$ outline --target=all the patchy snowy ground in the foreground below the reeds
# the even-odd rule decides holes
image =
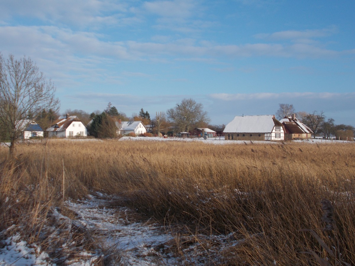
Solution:
[[[233,233],[201,235],[181,225],[169,225],[166,231],[152,220],[140,221],[127,207],[113,207],[117,199],[94,193],[86,200],[67,201],[66,206],[77,216],[75,221],[54,211],[62,223],[75,222],[85,228],[98,246],[94,251],[82,250],[75,259],[61,264],[94,266],[104,257],[107,265],[215,265],[223,260],[223,250],[240,243]],[[0,244],[0,265],[55,265],[40,247],[29,245],[17,234]]]

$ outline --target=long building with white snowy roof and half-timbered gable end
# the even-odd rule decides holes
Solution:
[[[224,128],[225,140],[284,140],[283,124],[274,115],[236,116]]]

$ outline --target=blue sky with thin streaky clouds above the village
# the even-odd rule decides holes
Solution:
[[[60,111],[151,118],[184,98],[211,124],[279,104],[355,126],[355,1],[0,2],[3,57],[30,57]]]

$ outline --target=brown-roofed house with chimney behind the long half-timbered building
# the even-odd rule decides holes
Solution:
[[[295,114],[292,116],[285,116],[280,122],[285,127],[285,139],[310,139],[313,131],[304,123],[299,121]]]

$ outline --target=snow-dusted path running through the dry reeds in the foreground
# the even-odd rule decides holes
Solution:
[[[88,200],[68,202],[68,207],[78,215],[78,221],[97,238],[107,256],[116,258],[121,265],[176,265],[173,254],[159,251],[164,243],[173,239],[162,226],[150,221],[137,222],[126,207],[107,207],[112,196],[98,194]],[[112,203],[111,203],[112,205]],[[110,254],[111,253],[111,254]],[[117,261],[119,260],[119,261]]]

